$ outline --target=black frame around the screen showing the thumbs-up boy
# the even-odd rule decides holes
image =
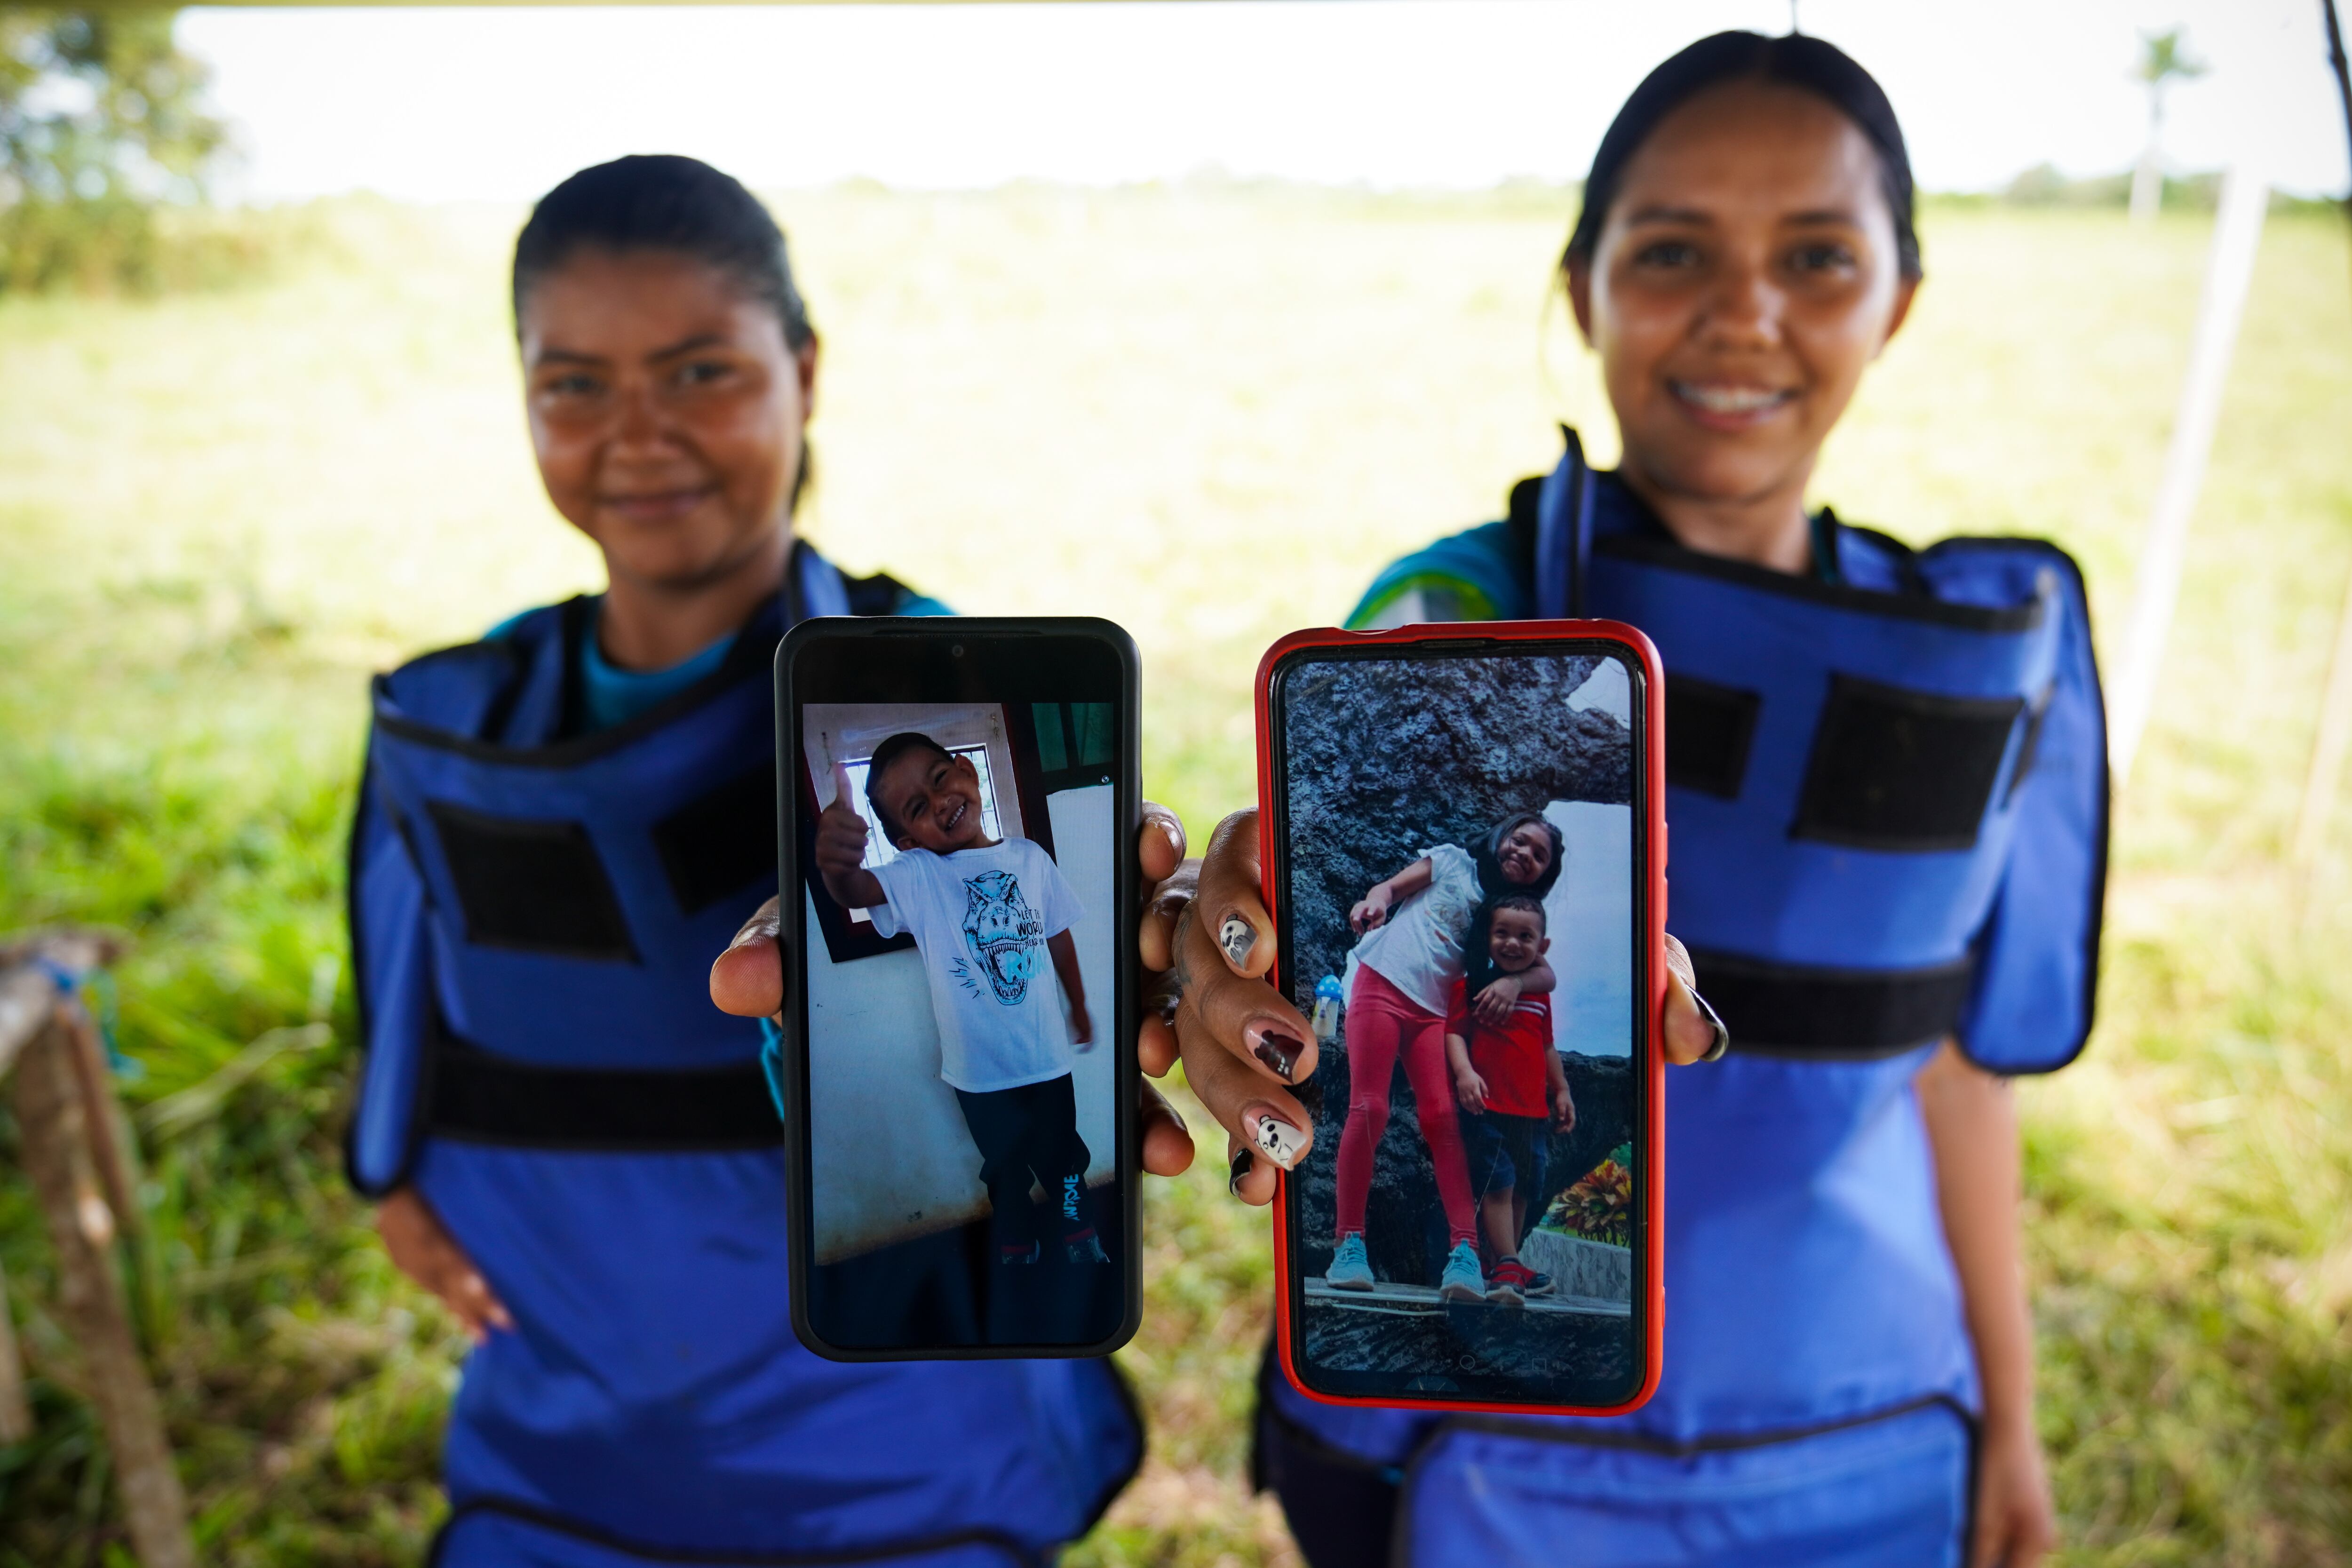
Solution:
[[[804,691],[809,679],[828,679],[804,668],[811,649],[840,646],[854,665],[840,686]],[[1080,656],[1105,661],[1101,670],[1073,679],[1082,668]],[[978,701],[1115,701],[1117,703],[1117,757],[1112,778],[1117,785],[1115,823],[1120,851],[1112,856],[1112,903],[1117,919],[1112,929],[1115,994],[1103,1013],[1108,1046],[1115,1053],[1115,1161],[1122,1171],[1117,1204],[1122,1215],[1120,1274],[1124,1281],[1124,1312],[1117,1326],[1094,1342],[1044,1342],[1044,1345],[927,1345],[927,1347],[847,1347],[826,1340],[809,1321],[809,1269],[814,1267],[814,1215],[809,1204],[811,1143],[807,1126],[809,1105],[809,1020],[807,1020],[807,910],[795,896],[800,889],[800,827],[802,797],[802,726],[800,703],[818,701],[955,701],[938,696],[941,686],[924,689],[920,682],[927,665],[941,675],[960,668],[967,679],[974,670],[988,670],[993,691]],[[1004,682],[1002,689],[997,682]],[[776,646],[776,886],[779,929],[776,940],[783,959],[786,1001],[781,1091],[786,1100],[783,1143],[788,1161],[786,1180],[786,1227],[790,1253],[793,1333],[811,1354],[828,1361],[1004,1361],[1004,1359],[1082,1359],[1108,1356],[1136,1335],[1143,1321],[1143,1248],[1136,1234],[1138,1220],[1138,1147],[1136,1147],[1136,1093],[1141,1067],[1136,1063],[1136,1009],[1141,997],[1141,973],[1136,952],[1136,929],[1141,922],[1138,870],[1134,858],[1136,832],[1143,825],[1143,776],[1141,776],[1141,658],[1134,639],[1112,621],[1091,616],[821,616],[795,625]]]

